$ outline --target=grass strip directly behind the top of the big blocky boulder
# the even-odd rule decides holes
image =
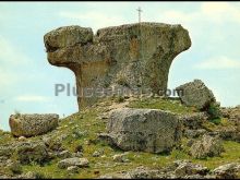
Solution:
[[[131,108],[149,108],[149,109],[160,109],[169,110],[176,113],[191,113],[196,111],[194,107],[187,107],[177,99],[151,97],[144,99],[137,99],[130,103],[129,107]]]

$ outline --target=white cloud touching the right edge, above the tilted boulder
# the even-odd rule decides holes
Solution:
[[[240,69],[240,60],[229,59],[228,57],[214,57],[195,65],[197,69]]]

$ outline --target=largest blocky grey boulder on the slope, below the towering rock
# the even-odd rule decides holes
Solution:
[[[169,152],[181,137],[175,113],[155,109],[117,109],[107,125],[111,144],[124,151]]]

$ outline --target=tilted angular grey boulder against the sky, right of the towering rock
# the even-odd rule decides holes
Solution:
[[[201,80],[185,83],[176,88],[181,101],[196,109],[207,109],[211,103],[215,103],[213,92]]]

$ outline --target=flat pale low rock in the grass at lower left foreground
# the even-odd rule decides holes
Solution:
[[[60,169],[67,169],[68,167],[71,167],[71,166],[76,166],[79,168],[82,168],[82,167],[88,167],[88,164],[89,163],[86,158],[73,157],[73,158],[67,158],[67,159],[59,161],[58,167]]]

